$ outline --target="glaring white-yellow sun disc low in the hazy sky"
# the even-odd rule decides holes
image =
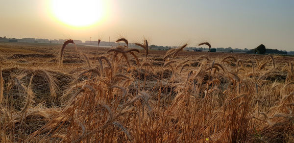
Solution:
[[[73,27],[86,27],[101,21],[103,2],[100,0],[52,0],[54,17]]]

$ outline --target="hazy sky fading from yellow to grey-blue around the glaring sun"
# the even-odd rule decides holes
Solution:
[[[103,3],[103,20],[73,27],[52,15],[51,0],[0,0],[0,36],[82,41],[90,37],[108,41],[110,36],[114,41],[123,35],[129,42],[138,42],[144,36],[151,44],[162,46],[185,42],[196,46],[208,41],[212,47],[255,48],[264,44],[267,48],[294,50],[294,0],[98,1]],[[82,16],[76,12],[89,10],[87,4],[79,5],[69,4],[73,8],[67,10],[68,15],[77,16],[73,20],[77,22]],[[88,12],[87,17],[98,15]]]

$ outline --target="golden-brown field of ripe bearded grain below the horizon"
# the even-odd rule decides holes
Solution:
[[[294,57],[70,43],[0,42],[0,142],[294,142]]]

